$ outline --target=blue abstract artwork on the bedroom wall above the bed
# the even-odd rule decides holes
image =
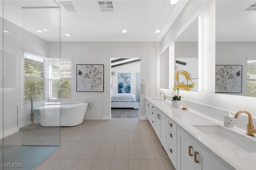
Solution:
[[[118,73],[118,93],[131,93],[130,73]]]

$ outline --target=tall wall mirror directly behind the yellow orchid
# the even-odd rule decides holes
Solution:
[[[175,68],[176,70],[186,70],[189,72],[191,81],[187,81],[184,76],[179,76],[179,82],[185,84],[194,83],[190,91],[198,92],[198,30],[199,19],[195,18],[175,39]]]

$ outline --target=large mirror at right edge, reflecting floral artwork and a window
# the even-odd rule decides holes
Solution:
[[[216,1],[215,92],[256,97],[256,2]]]

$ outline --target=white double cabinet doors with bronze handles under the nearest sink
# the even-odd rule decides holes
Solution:
[[[177,170],[231,170],[181,128],[177,129]]]

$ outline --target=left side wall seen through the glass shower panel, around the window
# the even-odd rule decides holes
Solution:
[[[8,20],[4,20],[4,29],[10,33],[4,33],[4,59],[1,58],[0,61],[3,66],[0,107],[3,109],[1,113],[4,114],[4,136],[7,136],[18,131],[18,127],[30,123],[30,103],[22,103],[24,50],[47,56],[48,42]],[[34,106],[37,104],[38,102],[35,102]]]

